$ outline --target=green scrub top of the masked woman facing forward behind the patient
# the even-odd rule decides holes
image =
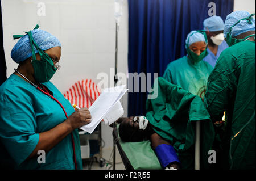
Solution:
[[[207,79],[212,70],[208,62],[193,63],[187,56],[184,56],[167,65],[163,78],[203,98]]]

